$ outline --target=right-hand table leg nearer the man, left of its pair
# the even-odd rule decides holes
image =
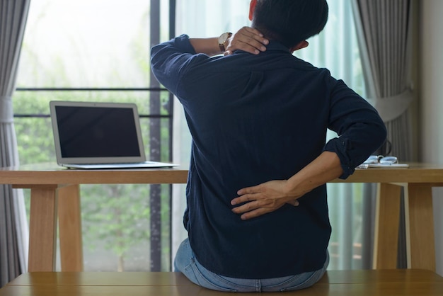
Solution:
[[[402,186],[379,183],[374,233],[374,269],[397,268]]]

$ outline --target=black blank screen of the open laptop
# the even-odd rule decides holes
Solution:
[[[56,106],[63,157],[140,156],[131,108]]]

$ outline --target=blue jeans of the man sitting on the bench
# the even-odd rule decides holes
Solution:
[[[326,272],[329,254],[323,268],[318,271],[285,276],[283,278],[242,279],[228,278],[208,271],[195,258],[189,239],[185,239],[178,248],[175,271],[183,273],[192,283],[202,287],[223,292],[283,292],[309,288],[318,282]]]

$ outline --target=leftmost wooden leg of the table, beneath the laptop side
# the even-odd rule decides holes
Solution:
[[[57,241],[57,186],[35,186],[30,191],[28,271],[55,271]]]

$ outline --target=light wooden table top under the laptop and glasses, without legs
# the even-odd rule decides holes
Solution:
[[[409,168],[356,169],[346,180],[332,183],[443,183],[443,166],[410,163]],[[0,168],[0,184],[186,183],[188,166],[161,169],[75,170],[57,164]]]

